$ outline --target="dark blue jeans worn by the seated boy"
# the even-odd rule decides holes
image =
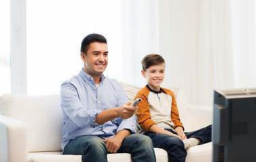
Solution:
[[[165,130],[177,134],[171,129]],[[211,125],[193,132],[185,132],[185,134],[187,138],[199,138],[200,144],[211,142]],[[169,162],[185,161],[187,151],[184,148],[184,142],[178,137],[152,132],[146,132],[145,135],[152,139],[154,147],[163,148],[167,151]]]

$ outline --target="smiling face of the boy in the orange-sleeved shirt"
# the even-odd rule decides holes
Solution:
[[[146,78],[148,86],[152,90],[159,91],[160,85],[165,78],[165,63],[152,65],[146,69],[146,72],[142,70],[142,76]]]

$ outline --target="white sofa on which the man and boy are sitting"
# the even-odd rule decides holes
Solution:
[[[129,100],[140,88],[123,84]],[[179,91],[179,92],[178,92]],[[186,131],[212,123],[212,108],[188,105],[182,90],[173,88]],[[60,95],[28,96],[4,94],[0,97],[1,162],[81,162],[81,155],[62,155],[62,110]],[[155,148],[158,162],[168,161],[167,152]],[[211,161],[212,142],[188,150],[186,162]],[[108,154],[108,161],[131,161],[128,153]]]

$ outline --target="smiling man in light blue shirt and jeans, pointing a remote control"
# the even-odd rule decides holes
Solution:
[[[61,86],[63,154],[82,155],[83,162],[107,161],[108,153],[131,153],[133,161],[156,161],[152,140],[135,134],[137,107],[127,103],[119,82],[103,74],[108,65],[106,38],[86,36],[81,58],[81,72]]]

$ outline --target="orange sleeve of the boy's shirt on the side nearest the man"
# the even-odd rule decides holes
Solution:
[[[139,122],[140,126],[142,127],[142,129],[146,130],[146,132],[149,131],[149,128],[151,126],[156,124],[156,122],[154,122],[151,119],[151,114],[150,114],[150,109],[149,109],[150,106],[148,104],[148,99],[146,96],[147,94],[148,94],[148,92],[144,92],[144,90],[142,89],[139,92],[137,92],[137,95],[135,97],[135,99],[137,99],[137,98],[142,99],[142,101],[138,105],[137,119],[138,119],[138,122]]]

